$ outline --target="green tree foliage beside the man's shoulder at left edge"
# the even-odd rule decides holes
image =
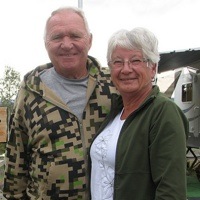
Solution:
[[[20,86],[20,73],[13,68],[6,66],[4,77],[0,79],[0,100],[1,106],[8,108],[8,113],[12,110],[13,101]]]

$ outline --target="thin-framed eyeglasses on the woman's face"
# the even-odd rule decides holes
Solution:
[[[137,59],[137,58],[133,58],[131,60],[120,60],[120,59],[116,59],[116,60],[112,60],[109,61],[108,63],[111,64],[115,69],[122,69],[124,67],[125,63],[128,63],[130,68],[134,68],[134,67],[141,67],[142,63],[148,63],[149,59]],[[148,67],[148,65],[147,65]]]

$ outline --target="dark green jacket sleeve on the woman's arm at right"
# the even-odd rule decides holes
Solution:
[[[150,165],[155,200],[186,199],[186,138],[188,121],[176,104],[156,108],[150,131]]]

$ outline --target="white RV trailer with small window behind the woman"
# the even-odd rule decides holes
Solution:
[[[189,121],[187,148],[197,162],[192,148],[200,148],[200,70],[183,67],[175,73],[174,101],[181,108]]]

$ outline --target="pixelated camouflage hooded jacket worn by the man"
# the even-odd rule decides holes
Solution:
[[[87,105],[82,121],[45,86],[27,74],[10,119],[3,193],[7,199],[87,199],[87,151],[110,111],[116,90],[108,68],[88,58]]]

